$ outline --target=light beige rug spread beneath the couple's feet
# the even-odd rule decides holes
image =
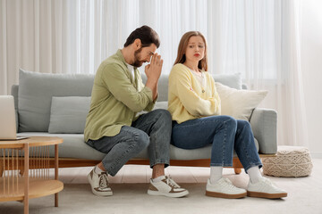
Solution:
[[[79,175],[78,175],[79,177]],[[248,176],[225,175],[234,185],[246,187]],[[205,196],[205,183],[181,183],[190,191],[188,197],[180,199],[149,196],[147,183],[112,184],[114,195],[97,197],[90,192],[88,184],[65,184],[59,193],[59,207],[54,207],[54,196],[30,200],[30,214],[39,213],[322,213],[322,160],[314,160],[310,177],[270,177],[276,185],[288,191],[285,199],[267,200],[259,198],[220,199]],[[84,175],[82,175],[84,178]],[[85,180],[85,178],[84,178]],[[23,213],[21,202],[0,202],[1,214]]]

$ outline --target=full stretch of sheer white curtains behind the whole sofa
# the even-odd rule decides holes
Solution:
[[[0,95],[18,69],[95,73],[146,24],[161,37],[168,73],[182,34],[208,38],[209,71],[241,72],[267,89],[261,107],[278,111],[279,144],[307,144],[301,84],[300,0],[0,0]]]

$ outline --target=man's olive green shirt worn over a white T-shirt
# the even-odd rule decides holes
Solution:
[[[138,69],[133,76],[121,50],[100,64],[86,118],[85,142],[116,136],[123,126],[131,126],[137,112],[153,109],[151,89],[143,85]]]

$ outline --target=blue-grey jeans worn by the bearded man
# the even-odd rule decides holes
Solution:
[[[155,110],[140,115],[131,127],[123,126],[118,135],[89,140],[87,144],[106,153],[102,163],[111,176],[147,147],[150,167],[160,163],[167,167],[170,162],[171,129],[169,111]]]

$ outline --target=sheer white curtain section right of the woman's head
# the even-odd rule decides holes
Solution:
[[[301,78],[301,1],[210,1],[213,72],[241,72],[251,89],[269,91],[261,107],[278,112],[278,143],[307,145]]]

